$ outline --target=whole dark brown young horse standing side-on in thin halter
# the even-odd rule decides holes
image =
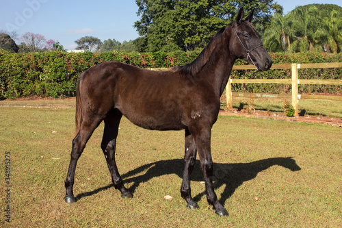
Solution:
[[[252,14],[218,31],[191,64],[170,71],[155,72],[120,62],[104,62],[81,74],[76,95],[76,136],[65,180],[67,203],[74,203],[75,168],[92,132],[105,121],[101,148],[107,160],[114,187],[122,197],[132,198],[124,187],[115,162],[116,136],[122,115],[145,129],[185,130],[185,169],[181,196],[195,209],[190,173],[196,154],[205,178],[207,201],[219,215],[228,215],[213,187],[211,127],[218,118],[220,97],[236,59],[244,59],[259,71],[268,70],[272,61],[261,45]]]

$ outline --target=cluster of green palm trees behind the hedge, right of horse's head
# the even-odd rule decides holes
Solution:
[[[299,6],[286,16],[275,14],[265,31],[268,51],[342,50],[342,8],[331,4]]]

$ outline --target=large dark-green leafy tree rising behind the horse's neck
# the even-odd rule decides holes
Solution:
[[[224,0],[136,0],[140,21],[134,27],[141,38],[135,42],[144,51],[192,51],[207,45],[215,32],[233,21],[241,5],[256,12],[256,26],[262,32],[272,12],[282,7],[273,1]]]

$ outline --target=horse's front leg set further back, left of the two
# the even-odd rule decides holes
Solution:
[[[183,173],[183,181],[181,186],[181,195],[183,199],[187,202],[187,207],[190,209],[198,208],[197,203],[192,199],[191,196],[191,187],[190,187],[190,175],[192,173],[192,169],[194,168],[194,164],[196,162],[196,145],[194,141],[194,136],[189,132],[189,130],[185,130],[185,155],[184,155],[184,173]]]

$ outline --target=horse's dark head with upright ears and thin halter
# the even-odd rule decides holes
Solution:
[[[237,14],[232,24],[230,50],[235,58],[243,59],[253,64],[258,71],[267,71],[272,66],[272,60],[263,47],[258,32],[252,23],[252,13],[244,18],[244,8]]]

